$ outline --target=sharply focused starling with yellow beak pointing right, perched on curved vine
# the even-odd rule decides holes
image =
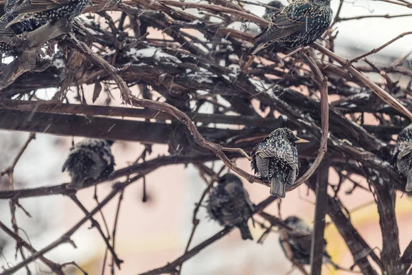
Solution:
[[[296,144],[308,142],[297,137],[288,128],[273,131],[257,144],[251,153],[255,173],[271,183],[271,195],[284,198],[299,172]]]

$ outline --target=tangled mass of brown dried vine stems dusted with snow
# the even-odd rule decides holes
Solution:
[[[405,9],[412,5],[406,0],[381,1]],[[299,136],[310,140],[310,144],[299,149],[301,170],[305,173],[293,188],[306,184],[317,195],[311,274],[321,272],[321,261],[317,260],[323,248],[317,244],[323,243],[325,213],[352,253],[355,270],[363,274],[407,274],[412,262],[412,242],[400,252],[395,214],[396,191],[402,192],[405,179],[394,170],[389,151],[392,135],[412,120],[409,111],[412,109],[412,70],[404,66],[410,53],[389,65],[375,65],[368,58],[412,32],[399,34],[385,45],[350,61],[334,54],[336,34],[332,31],[324,35],[325,45],[314,43],[311,49],[293,56],[282,58],[282,55],[262,51],[249,58],[245,52],[253,38],[247,30],[250,23],[263,28],[268,22],[245,9],[244,2],[247,1],[96,0],[84,11],[89,17],[76,19],[71,32],[49,41],[47,47],[38,47],[44,41],[35,41],[38,36],[34,34],[16,38],[16,45],[25,45],[19,47],[23,52],[11,63],[0,65],[0,129],[32,133],[14,162],[1,173],[10,179],[9,190],[0,192],[0,199],[10,201],[12,229],[1,222],[0,227],[16,241],[22,257],[20,263],[2,274],[13,274],[21,268],[30,274],[28,265],[33,261],[43,262],[56,274],[64,274],[67,265],[78,266],[74,262],[54,263],[44,254],[62,243],[74,245],[72,234],[87,221],[91,221],[104,239],[107,246],[104,265],[111,261],[111,274],[115,274],[122,264],[115,252],[117,217],[127,186],[139,179],[146,182],[145,176],[157,168],[191,163],[207,182],[198,202],[200,206],[222,172],[216,173],[205,162],[218,159],[247,181],[267,185],[236,166],[234,159],[249,158],[245,152],[281,126],[296,130]],[[339,13],[343,4],[341,0],[330,30],[341,21],[412,15],[342,18]],[[242,31],[230,28],[234,22],[242,24]],[[37,32],[45,32],[47,28],[54,27],[45,26]],[[162,38],[150,38],[148,32],[152,30],[161,31]],[[25,43],[21,44],[21,40]],[[358,61],[363,61],[363,65],[358,65]],[[365,73],[375,74],[379,80],[375,83]],[[399,76],[409,78],[409,83],[398,83],[395,79]],[[84,85],[94,85],[93,103],[101,94],[106,94],[106,104],[98,106],[87,102]],[[52,100],[38,98],[36,91],[47,88],[57,88]],[[73,102],[67,98],[69,92],[77,93]],[[328,95],[334,95],[334,100],[328,100]],[[124,105],[112,107],[113,96],[121,97]],[[211,105],[213,112],[200,113],[204,104]],[[375,118],[378,123],[367,124],[367,118]],[[226,126],[216,127],[216,124]],[[76,191],[65,188],[65,184],[14,190],[14,166],[36,132],[141,142],[145,149],[135,164],[116,170],[106,180],[124,179],[114,184],[104,199],[95,195],[97,205],[88,211],[76,197]],[[146,159],[151,144],[169,144],[170,154]],[[339,174],[337,185],[328,183],[330,167]],[[369,188],[354,181],[352,175],[367,179]],[[350,213],[339,199],[344,181],[353,185],[347,193],[363,189],[374,194],[382,230],[380,254],[358,234]],[[97,189],[102,182],[90,181],[84,188],[95,186]],[[19,235],[16,207],[29,214],[19,200],[58,194],[72,199],[85,217],[56,241],[36,250]],[[103,216],[102,208],[115,198],[118,199],[117,214],[110,232],[106,224],[102,229],[93,216],[98,212]],[[279,219],[263,212],[275,200],[268,197],[256,208],[256,213],[271,224],[264,235],[271,232],[272,226],[282,226]],[[182,256],[144,274],[179,274],[185,261],[231,232],[232,228],[225,228],[192,248],[192,236],[199,223],[198,206],[194,209],[192,234]],[[262,239],[263,236],[260,241]],[[23,250],[30,252],[30,256],[26,257]],[[307,274],[290,251],[288,255],[299,270]]]

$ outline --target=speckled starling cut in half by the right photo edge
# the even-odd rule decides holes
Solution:
[[[405,191],[412,192],[412,124],[400,131],[392,157],[398,172],[407,177]]]

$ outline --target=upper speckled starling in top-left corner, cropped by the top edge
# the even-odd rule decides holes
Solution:
[[[31,32],[59,19],[72,20],[82,13],[90,0],[8,0],[4,11],[15,34]]]

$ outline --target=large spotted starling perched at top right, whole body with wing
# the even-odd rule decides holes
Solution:
[[[293,1],[270,21],[271,24],[253,39],[252,54],[268,46],[275,52],[290,52],[319,39],[332,21],[330,0]]]

